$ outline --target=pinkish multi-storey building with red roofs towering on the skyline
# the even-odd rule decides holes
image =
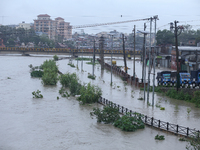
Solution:
[[[61,37],[62,40],[72,38],[72,28],[68,22],[61,17],[52,20],[47,14],[37,16],[37,19],[34,20],[34,30],[47,34],[52,40],[58,37]]]

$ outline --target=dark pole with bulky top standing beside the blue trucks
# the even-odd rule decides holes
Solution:
[[[176,74],[176,90],[178,92],[178,89],[180,88],[180,75],[179,75],[179,52],[178,52],[178,36],[181,34],[182,30],[183,30],[183,26],[178,26],[177,27],[177,23],[179,23],[178,21],[174,21],[175,26],[173,25],[173,22],[170,23],[170,30],[173,31],[174,28],[174,36],[175,36],[175,44],[176,44],[176,70],[177,70],[177,74]],[[179,33],[178,33],[179,30]]]

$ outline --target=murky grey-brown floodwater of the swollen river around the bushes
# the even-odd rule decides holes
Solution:
[[[40,79],[30,77],[28,65],[39,66],[46,59],[52,57],[0,56],[0,150],[185,149],[187,143],[180,142],[178,136],[154,128],[146,126],[136,132],[124,132],[112,125],[97,123],[90,117],[90,112],[93,107],[101,107],[100,104],[80,105],[74,97],[59,95],[60,83],[43,86]],[[82,83],[98,85],[102,88],[102,97],[156,119],[199,129],[200,109],[194,104],[155,94],[155,104],[165,107],[161,111],[138,100],[143,91],[126,85],[116,75],[113,75],[111,87],[110,72],[101,71],[100,65],[95,66],[96,80],[90,80],[87,75],[92,74],[91,65],[83,62],[82,68],[79,61],[77,69],[67,65],[68,62],[69,59],[58,61],[59,70],[75,72]],[[72,63],[77,65],[75,60]],[[127,64],[132,68],[132,61],[128,60]],[[123,61],[117,60],[117,65],[123,65]],[[136,62],[136,74],[141,75],[140,62]],[[32,92],[37,89],[43,99],[32,98]],[[189,115],[187,108],[192,109]],[[157,134],[164,135],[165,140],[156,141]]]

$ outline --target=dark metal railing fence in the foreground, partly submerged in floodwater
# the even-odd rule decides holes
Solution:
[[[176,124],[171,124],[169,122],[161,121],[153,117],[148,117],[147,115],[134,112],[132,110],[129,110],[128,108],[120,106],[102,97],[98,99],[98,103],[103,104],[105,106],[111,106],[113,108],[117,108],[119,113],[123,115],[129,114],[130,116],[135,116],[137,118],[140,117],[142,121],[148,126],[152,126],[164,131],[168,131],[176,135],[199,138],[199,132],[200,132],[199,130],[190,129],[189,127],[183,127]]]

